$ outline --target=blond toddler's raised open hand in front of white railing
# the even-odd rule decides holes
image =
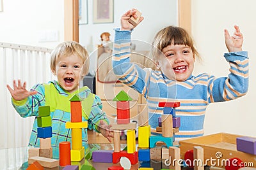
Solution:
[[[17,86],[16,81],[13,80],[13,89],[9,85],[7,85],[7,88],[15,101],[22,101],[23,99],[26,99],[27,97],[35,95],[37,93],[36,91],[29,92],[28,90],[26,90],[26,81],[23,83],[23,85],[21,85],[20,80],[18,80]]]

